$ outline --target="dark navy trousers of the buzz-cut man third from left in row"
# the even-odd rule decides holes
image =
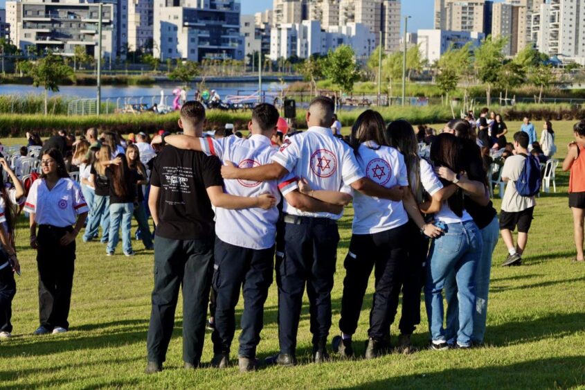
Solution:
[[[331,290],[337,255],[337,223],[328,218],[294,218],[285,224],[285,256],[276,265],[280,353],[294,354],[305,283],[313,344],[331,328]]]

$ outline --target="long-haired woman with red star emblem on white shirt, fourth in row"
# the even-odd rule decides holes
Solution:
[[[393,200],[354,193],[354,220],[352,240],[345,258],[345,279],[341,300],[341,335],[334,337],[333,349],[342,356],[353,355],[352,335],[357,329],[363,296],[366,294],[372,269],[375,275],[375,294],[370,310],[370,329],[366,359],[388,351],[390,325],[397,307],[402,276],[407,262],[408,214],[416,209],[413,197],[408,196],[408,174],[404,157],[388,145],[386,125],[378,112],[363,112],[352,127],[352,147],[359,166],[366,176],[380,186],[396,188],[399,196]],[[406,197],[404,197],[406,193]],[[420,233],[429,236],[438,233],[432,225],[425,225],[415,210]]]

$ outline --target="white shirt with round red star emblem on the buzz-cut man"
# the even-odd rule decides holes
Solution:
[[[289,171],[280,180],[282,195],[298,188],[296,181],[307,179],[314,190],[343,191],[350,193],[350,184],[363,177],[349,145],[333,136],[327,127],[310,127],[307,132],[287,137],[280,150],[272,156]],[[339,220],[343,215],[331,213],[307,213],[295,209],[285,200],[282,211],[305,217]]]

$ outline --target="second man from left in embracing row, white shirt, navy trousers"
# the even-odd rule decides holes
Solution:
[[[182,149],[199,150],[221,160],[235,161],[241,168],[271,163],[278,149],[272,148],[271,136],[276,132],[278,110],[273,105],[261,104],[252,112],[248,123],[249,139],[228,136],[222,139],[192,138],[188,136],[165,136],[165,142]],[[158,142],[154,139],[153,142]],[[226,180],[226,193],[242,197],[255,197],[271,193],[277,200],[280,192],[276,180],[249,181]],[[309,202],[316,201],[305,197]],[[341,212],[341,206],[323,204],[330,212]],[[260,342],[263,326],[264,302],[272,283],[274,245],[278,209],[216,211],[215,223],[215,275],[213,289],[216,295],[215,330],[213,331],[213,366],[228,365],[231,342],[235,332],[235,306],[244,297],[238,351],[240,371],[253,371],[257,366],[256,347]],[[221,275],[221,277],[217,276]]]

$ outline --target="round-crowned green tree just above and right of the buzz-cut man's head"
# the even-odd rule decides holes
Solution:
[[[354,82],[359,80],[359,65],[350,46],[341,45],[335,51],[329,51],[325,58],[323,76],[331,80],[342,91],[351,92]]]

